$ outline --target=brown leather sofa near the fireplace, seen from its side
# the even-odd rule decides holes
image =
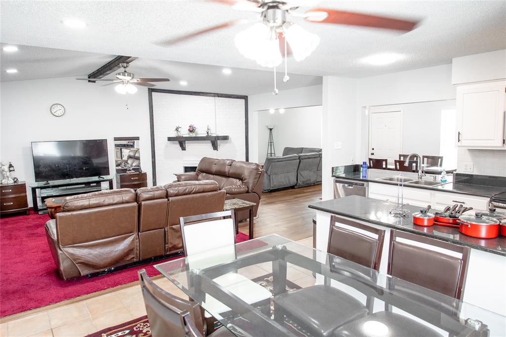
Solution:
[[[254,207],[253,215],[257,216],[264,183],[264,171],[260,164],[203,157],[195,173],[179,174],[177,180],[180,182],[214,180],[220,190],[227,192],[226,199],[237,198],[255,202],[257,205]],[[248,212],[239,212],[237,216],[239,220],[246,219]]]

